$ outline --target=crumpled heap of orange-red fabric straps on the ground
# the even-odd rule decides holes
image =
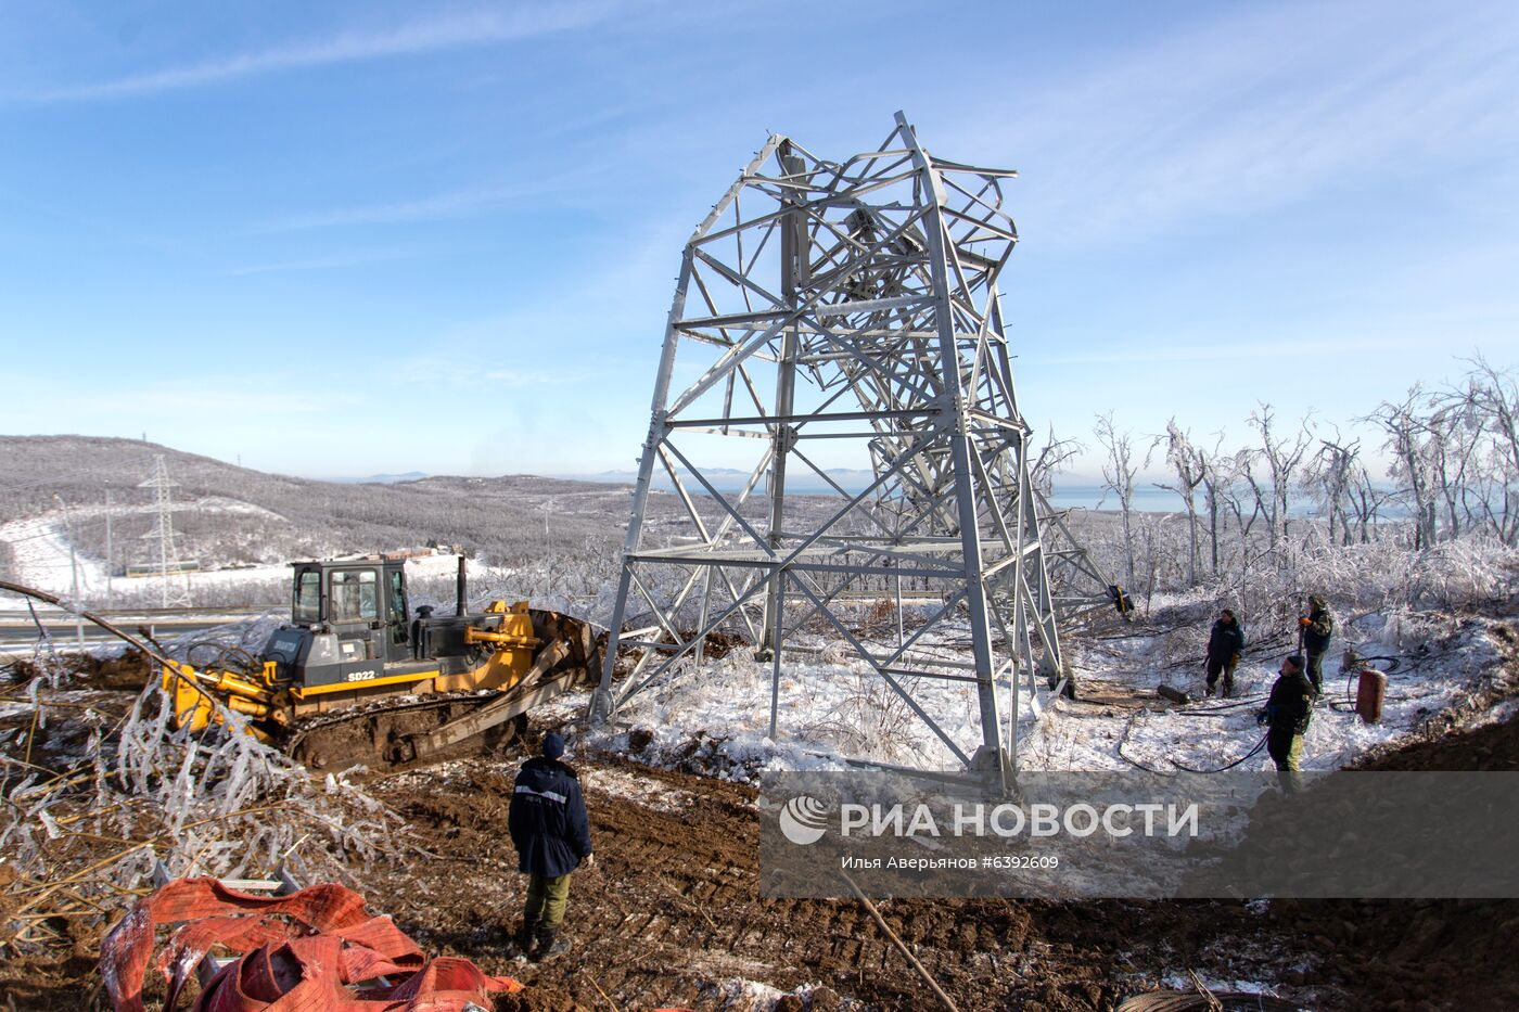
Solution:
[[[117,1012],[143,1012],[155,928],[179,922],[156,960],[169,982],[166,1012],[213,945],[240,959],[207,983],[193,1012],[465,1012],[523,988],[468,959],[427,959],[342,886],[255,897],[216,878],[179,878],[141,900],[102,944],[100,974]]]

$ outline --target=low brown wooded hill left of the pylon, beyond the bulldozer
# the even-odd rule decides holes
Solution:
[[[109,491],[117,565],[146,561],[153,542],[144,535],[153,530],[156,514],[153,491],[138,485],[152,476],[155,454],[164,456],[178,483],[172,494],[181,556],[210,565],[384,552],[428,541],[512,565],[582,550],[588,539],[617,546],[627,523],[629,488],[612,483],[533,476],[317,482],[93,436],[0,436],[0,523],[39,514],[58,514],[62,523],[61,498],[70,508],[73,542],[103,559]],[[673,508],[673,497],[656,498],[671,500],[655,503],[656,512]]]

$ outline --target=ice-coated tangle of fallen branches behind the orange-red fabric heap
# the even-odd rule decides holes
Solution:
[[[33,679],[30,697],[44,679]],[[26,915],[99,921],[170,875],[269,875],[287,866],[305,881],[352,880],[352,871],[404,846],[398,816],[342,775],[316,780],[258,742],[242,716],[225,726],[175,729],[150,684],[115,728],[96,728],[85,757],[56,775],[32,770],[5,789],[0,851],[14,872],[5,907],[15,945],[46,942]],[[43,883],[55,883],[53,887]]]

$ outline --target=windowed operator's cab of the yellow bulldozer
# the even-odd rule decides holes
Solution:
[[[292,625],[336,634],[345,656],[378,661],[412,656],[403,559],[293,565]]]

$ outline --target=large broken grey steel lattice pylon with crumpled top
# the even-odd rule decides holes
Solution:
[[[843,163],[770,137],[697,226],[594,720],[700,667],[708,635],[728,632],[770,664],[775,737],[785,664],[829,638],[958,766],[1009,783],[1019,696],[1037,708],[1060,687],[1056,606],[1107,600],[1030,482],[996,289],[1018,242],[1003,210],[1012,175],[934,158],[898,112],[878,150]],[[828,465],[848,451],[864,474],[852,483]],[[679,500],[673,526],[650,520],[656,480]],[[899,617],[904,593],[928,602],[913,629],[883,640],[848,617],[892,594]],[[638,659],[614,687],[620,647]],[[978,726],[933,711],[946,685]]]

